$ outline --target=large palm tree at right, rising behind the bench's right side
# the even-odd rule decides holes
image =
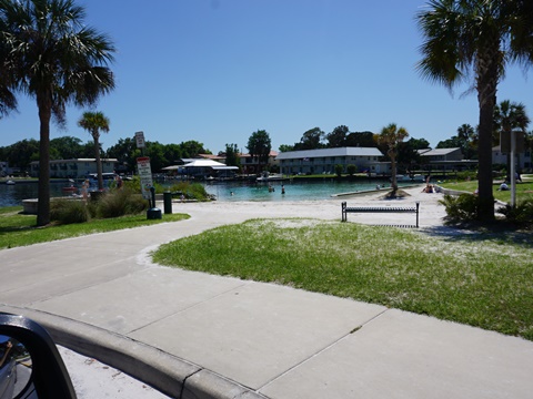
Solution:
[[[505,66],[533,64],[530,0],[431,0],[416,16],[424,35],[421,74],[449,89],[463,82],[477,92],[480,219],[494,218],[492,132],[496,90]],[[473,76],[473,81],[469,79]]]

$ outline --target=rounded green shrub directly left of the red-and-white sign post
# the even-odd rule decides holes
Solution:
[[[105,193],[97,203],[95,214],[98,217],[110,218],[139,214],[147,208],[148,202],[141,194],[123,187]]]

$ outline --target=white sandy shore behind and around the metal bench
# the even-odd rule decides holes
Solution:
[[[391,206],[414,207],[420,202],[420,227],[441,227],[445,209],[439,204],[443,195],[440,193],[422,193],[422,186],[404,190],[406,197],[400,200],[384,200],[385,190],[365,194],[353,194],[332,197],[325,201],[288,201],[279,202],[211,202],[211,203],[180,203],[173,204],[173,212],[184,212],[193,217],[209,217],[217,213],[224,215],[229,223],[239,223],[254,217],[313,217],[321,219],[341,219],[341,203],[348,206]],[[281,194],[280,194],[281,195]],[[349,214],[349,222],[384,225],[414,225],[415,214],[399,213],[365,213]]]

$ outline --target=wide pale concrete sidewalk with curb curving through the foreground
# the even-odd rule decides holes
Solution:
[[[161,243],[250,217],[180,209],[192,217],[1,250],[0,311],[175,398],[532,397],[531,341],[151,264]]]

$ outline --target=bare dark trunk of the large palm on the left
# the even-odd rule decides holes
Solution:
[[[50,119],[52,115],[50,96],[38,95],[37,105],[40,122],[37,225],[46,226],[50,223]]]

